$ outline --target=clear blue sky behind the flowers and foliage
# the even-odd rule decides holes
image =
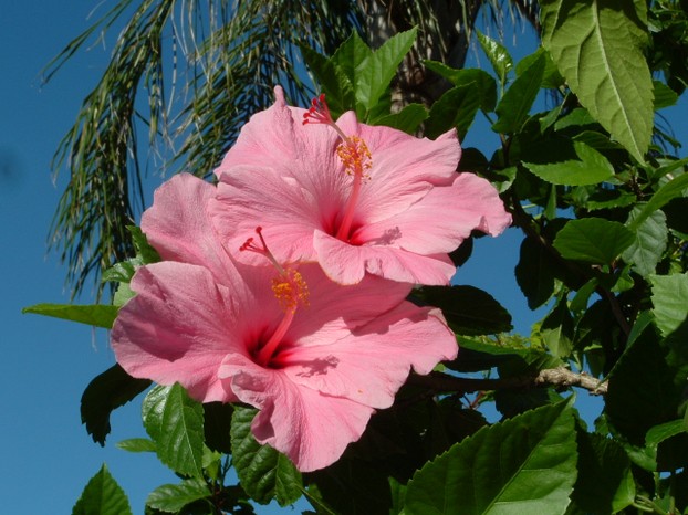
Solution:
[[[71,513],[83,486],[104,462],[129,496],[135,514],[143,513],[153,488],[176,481],[154,456],[129,454],[114,445],[144,435],[139,401],[114,413],[104,449],[93,443],[81,424],[79,403],[84,387],[114,362],[107,334],[20,313],[41,302],[69,302],[65,270],[46,249],[48,229],[65,183],[65,176],[53,183],[50,160],[81,99],[104,70],[108,49],[95,45],[79,53],[46,86],[41,86],[40,71],[87,27],[95,4],[91,0],[6,0],[0,14],[4,72],[0,82],[0,270],[4,286],[0,295],[0,498],[4,513]],[[519,53],[533,49],[532,39],[519,41]],[[685,107],[684,102],[674,109],[676,118]],[[471,138],[469,133],[469,146],[490,149],[497,145],[496,139]],[[159,178],[152,176],[147,183],[152,190]],[[490,292],[511,311],[517,328],[528,333],[535,318],[513,278],[519,242],[515,231],[497,240],[481,239],[458,281]],[[82,298],[91,301],[87,295]]]

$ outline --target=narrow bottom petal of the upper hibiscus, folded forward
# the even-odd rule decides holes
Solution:
[[[317,260],[333,281],[355,284],[368,272],[392,281],[413,284],[449,284],[456,267],[447,254],[421,255],[394,246],[350,245],[315,231]]]

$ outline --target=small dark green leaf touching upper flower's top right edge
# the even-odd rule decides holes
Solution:
[[[475,84],[452,87],[430,107],[425,124],[426,136],[432,139],[456,127],[461,139],[473,123],[479,107],[480,95]]]

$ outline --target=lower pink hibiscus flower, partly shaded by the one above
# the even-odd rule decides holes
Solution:
[[[117,361],[199,401],[253,406],[259,442],[301,471],[327,466],[411,368],[455,358],[456,339],[437,309],[404,299],[406,284],[342,286],[314,263],[275,267],[262,238],[244,249],[268,265],[236,263],[208,220],[215,190],[179,175],[156,191],[142,229],[166,261],[132,280],[136,296],[112,330]]]

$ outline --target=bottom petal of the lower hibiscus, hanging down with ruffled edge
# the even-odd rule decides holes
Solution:
[[[220,375],[241,401],[261,410],[251,425],[256,440],[286,454],[302,472],[338,460],[361,438],[374,411],[295,385],[283,372],[260,368],[241,355],[228,355]]]

